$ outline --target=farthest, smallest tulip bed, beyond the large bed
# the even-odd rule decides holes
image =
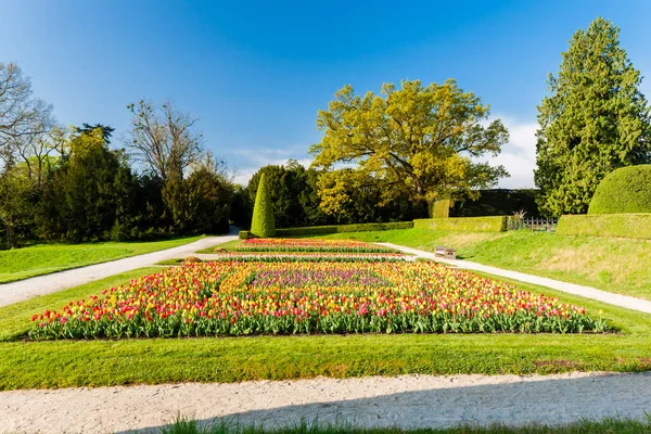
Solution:
[[[397,253],[393,248],[356,240],[293,238],[252,238],[244,240],[235,250],[238,252]]]

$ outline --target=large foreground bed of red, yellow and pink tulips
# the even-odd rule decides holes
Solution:
[[[189,264],[33,317],[48,339],[292,333],[575,333],[576,306],[433,263]]]

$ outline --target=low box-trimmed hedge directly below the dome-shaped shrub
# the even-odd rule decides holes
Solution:
[[[557,233],[651,240],[651,213],[562,216]]]

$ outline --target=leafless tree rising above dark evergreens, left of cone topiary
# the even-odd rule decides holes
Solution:
[[[140,101],[127,106],[132,113],[131,131],[125,140],[135,161],[143,163],[163,180],[182,177],[203,153],[197,119],[177,111],[171,103],[159,106]]]

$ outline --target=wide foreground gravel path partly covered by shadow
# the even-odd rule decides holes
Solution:
[[[3,392],[0,432],[155,432],[179,412],[203,422],[226,418],[265,426],[318,418],[413,429],[643,418],[650,410],[650,373],[405,375]]]

